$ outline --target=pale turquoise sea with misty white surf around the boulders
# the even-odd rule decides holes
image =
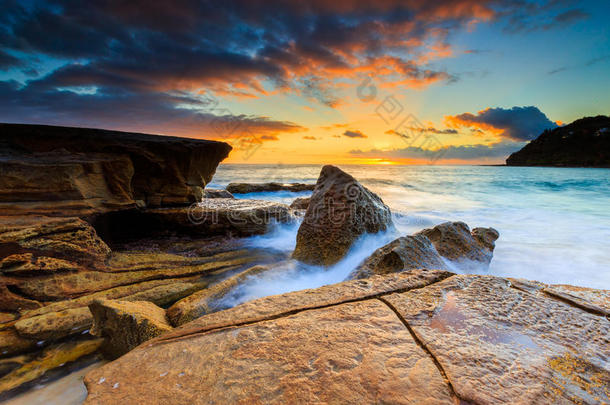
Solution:
[[[610,289],[610,170],[484,166],[342,165],[381,196],[401,234],[444,221],[500,232],[490,268],[484,272],[545,283]],[[229,182],[314,183],[318,165],[221,165],[210,187]],[[256,193],[290,203],[308,193]],[[290,250],[296,226],[253,238],[259,246]],[[277,288],[251,291],[248,298],[341,281],[371,249],[396,235],[371,239],[334,277],[312,272],[288,276]],[[354,252],[352,252],[354,253]],[[458,272],[477,271],[456,268]],[[293,273],[293,276],[297,273]],[[309,278],[308,278],[309,277]],[[312,281],[313,280],[313,281]],[[284,284],[282,284],[284,283]],[[285,284],[288,285],[285,285]]]

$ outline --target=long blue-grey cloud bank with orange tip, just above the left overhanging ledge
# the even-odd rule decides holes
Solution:
[[[227,140],[244,135],[276,140],[279,134],[306,129],[289,121],[212,109],[209,103],[208,99],[181,93],[129,93],[117,90],[79,94],[44,88],[32,92],[20,88],[15,82],[0,82],[0,105],[6,107],[0,109],[0,121],[3,122],[70,123]]]

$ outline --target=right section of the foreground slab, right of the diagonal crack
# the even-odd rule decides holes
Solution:
[[[454,276],[384,299],[436,357],[462,400],[610,400],[604,316],[491,276]]]

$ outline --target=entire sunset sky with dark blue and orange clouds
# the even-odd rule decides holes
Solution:
[[[500,164],[610,115],[610,2],[3,0],[0,122],[233,163]]]

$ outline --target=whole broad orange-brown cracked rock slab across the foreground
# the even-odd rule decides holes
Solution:
[[[199,318],[89,373],[86,403],[605,403],[609,335],[505,279],[417,270]]]

